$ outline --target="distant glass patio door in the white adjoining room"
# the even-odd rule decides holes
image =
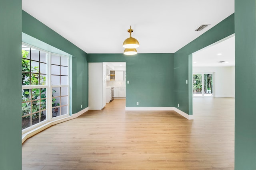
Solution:
[[[213,96],[213,73],[193,74],[193,96]]]

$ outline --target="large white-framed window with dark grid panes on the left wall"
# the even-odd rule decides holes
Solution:
[[[62,115],[69,115],[69,57],[22,45],[22,130]]]

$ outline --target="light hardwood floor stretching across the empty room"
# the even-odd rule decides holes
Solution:
[[[23,170],[233,170],[234,98],[174,111],[125,111],[125,100],[54,125],[22,145]]]

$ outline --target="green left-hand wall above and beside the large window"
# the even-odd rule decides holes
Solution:
[[[81,104],[82,109],[88,107],[87,54],[25,11],[22,11],[22,32],[72,55],[72,113],[80,111]]]

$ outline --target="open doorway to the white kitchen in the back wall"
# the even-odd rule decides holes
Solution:
[[[101,110],[115,98],[126,98],[126,63],[88,64],[88,107]]]

